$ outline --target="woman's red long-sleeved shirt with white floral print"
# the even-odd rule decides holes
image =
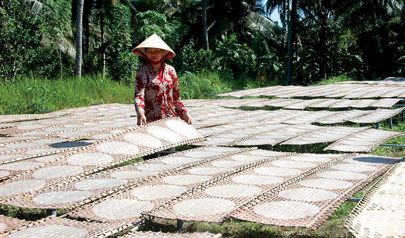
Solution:
[[[162,63],[159,72],[147,61],[139,68],[134,103],[138,116],[144,113],[147,123],[165,117],[183,118],[187,113],[180,99],[176,70],[166,63]]]

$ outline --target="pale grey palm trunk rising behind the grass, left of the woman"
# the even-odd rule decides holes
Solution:
[[[74,69],[74,74],[77,77],[82,76],[82,50],[83,50],[83,1],[77,0],[76,7],[76,66]]]

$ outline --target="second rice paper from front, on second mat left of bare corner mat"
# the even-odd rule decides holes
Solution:
[[[244,184],[217,185],[205,190],[205,193],[210,196],[223,198],[254,196],[261,192],[262,189],[259,187]]]

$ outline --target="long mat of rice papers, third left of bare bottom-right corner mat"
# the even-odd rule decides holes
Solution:
[[[159,208],[168,201],[179,200],[182,196],[189,196],[194,191],[201,190],[201,187],[238,171],[286,154],[288,153],[249,149],[234,155],[211,157],[191,167],[179,169],[164,177],[156,177],[92,204],[80,206],[68,214],[71,217],[102,222],[138,222],[144,212]]]

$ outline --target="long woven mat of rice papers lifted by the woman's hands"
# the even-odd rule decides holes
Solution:
[[[199,140],[204,139],[192,126],[179,118],[156,121],[129,129],[81,150],[68,152],[59,160],[49,162],[41,168],[25,171],[2,183],[0,195],[15,196],[43,187],[60,186],[133,158]],[[36,185],[27,186],[30,183]],[[16,188],[18,186],[19,189]]]

